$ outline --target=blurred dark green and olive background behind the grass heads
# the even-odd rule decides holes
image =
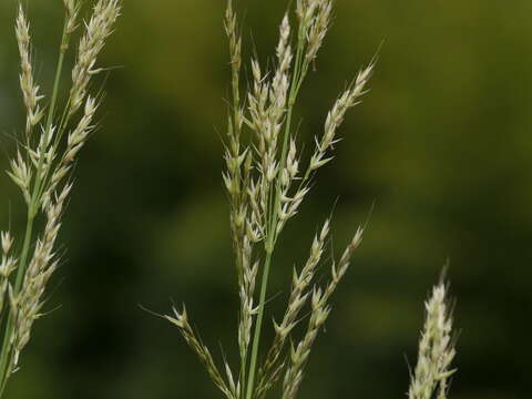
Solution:
[[[49,90],[62,1],[28,3],[38,76]],[[285,4],[239,1],[248,52],[254,42],[263,61]],[[0,3],[2,170],[13,154],[9,135],[23,126],[16,6]],[[121,68],[105,84],[103,127],[76,166],[61,235],[65,262],[48,305],[60,308],[37,323],[9,398],[219,397],[177,330],[137,305],[164,313],[171,298],[186,301],[217,358],[222,346],[235,360],[218,133],[229,76],[224,6],[125,1],[100,63]],[[297,109],[301,137],[321,131],[336,94],[383,45],[337,158],[284,235],[272,311],[282,311],[288,270],[337,200],[337,249],[374,202],[375,209],[301,398],[403,396],[422,300],[447,258],[460,329],[451,397],[530,398],[531,12],[528,0],[338,0]],[[1,228],[11,221],[20,237],[23,204],[7,176],[0,193]]]

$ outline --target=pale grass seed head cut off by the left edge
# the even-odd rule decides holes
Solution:
[[[98,55],[113,32],[121,10],[120,0],[99,0],[90,19],[81,21],[82,1],[63,0],[63,33],[52,93],[47,104],[43,104],[45,96],[34,79],[30,23],[21,4],[16,20],[21,58],[20,88],[27,120],[22,134],[17,137],[17,155],[10,162],[8,175],[22,193],[27,225],[21,241],[10,232],[1,234],[0,310],[3,338],[0,397],[9,378],[19,368],[20,354],[30,340],[33,321],[42,316],[47,283],[60,262],[55,241],[72,190],[72,167],[79,151],[96,129],[94,114],[101,98],[89,93],[90,83],[102,71],[96,68]],[[76,31],[82,32],[70,92],[61,102],[65,53]]]

